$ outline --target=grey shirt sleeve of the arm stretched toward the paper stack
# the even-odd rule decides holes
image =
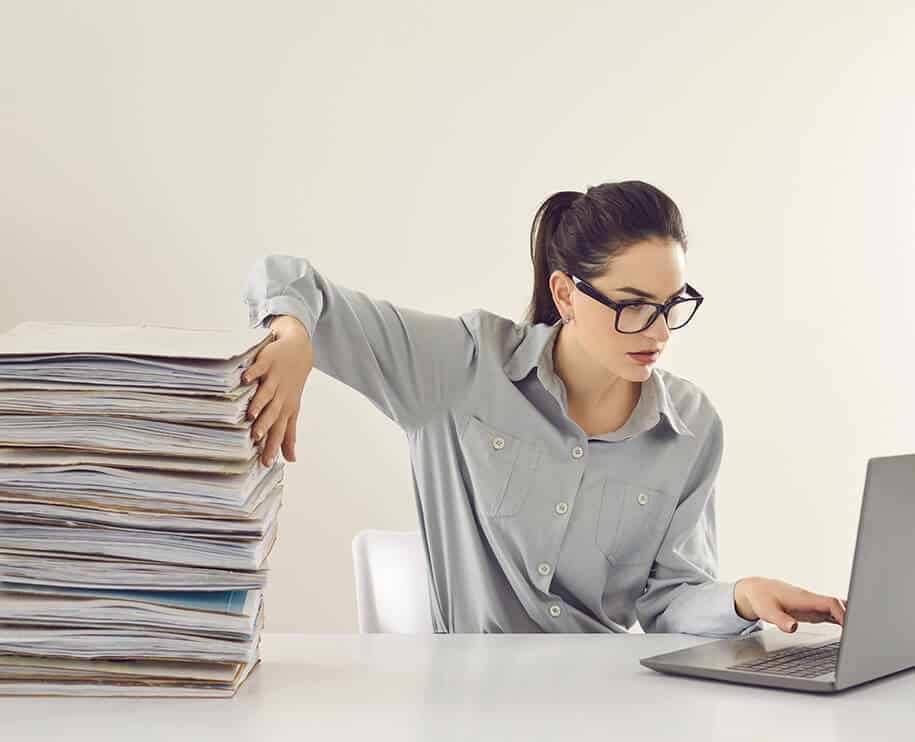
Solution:
[[[252,328],[278,314],[298,319],[311,337],[314,367],[363,394],[404,430],[421,427],[469,388],[475,311],[448,317],[395,306],[292,255],[258,258],[244,300]]]

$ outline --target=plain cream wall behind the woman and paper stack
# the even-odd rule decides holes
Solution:
[[[706,297],[659,363],[725,423],[720,577],[845,597],[865,466],[915,451],[915,9],[875,2],[7,2],[0,330],[247,325],[260,254],[521,321],[558,190],[645,180]],[[306,385],[270,631],[356,630],[406,440]]]

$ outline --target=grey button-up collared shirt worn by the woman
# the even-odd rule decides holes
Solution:
[[[291,255],[259,258],[244,300],[251,327],[301,321],[314,367],[404,431],[436,632],[762,630],[717,579],[723,427],[693,382],[652,367],[623,426],[588,435],[559,321],[397,306]]]

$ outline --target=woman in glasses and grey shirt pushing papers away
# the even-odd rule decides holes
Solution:
[[[295,461],[313,367],[400,425],[436,632],[842,624],[837,598],[716,579],[721,418],[696,384],[655,365],[702,303],[684,281],[676,204],[641,181],[561,191],[538,209],[531,249],[522,324],[396,306],[305,258],[258,260],[250,325],[276,341],[245,380],[258,380],[248,417],[264,463],[280,447]]]

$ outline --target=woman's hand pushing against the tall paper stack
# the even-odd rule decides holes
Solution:
[[[295,461],[296,419],[314,360],[311,337],[298,319],[279,315],[270,323],[270,329],[276,339],[260,349],[242,374],[245,384],[260,379],[247,416],[253,421],[251,437],[264,441],[264,466],[273,463],[281,444],[286,460]]]

